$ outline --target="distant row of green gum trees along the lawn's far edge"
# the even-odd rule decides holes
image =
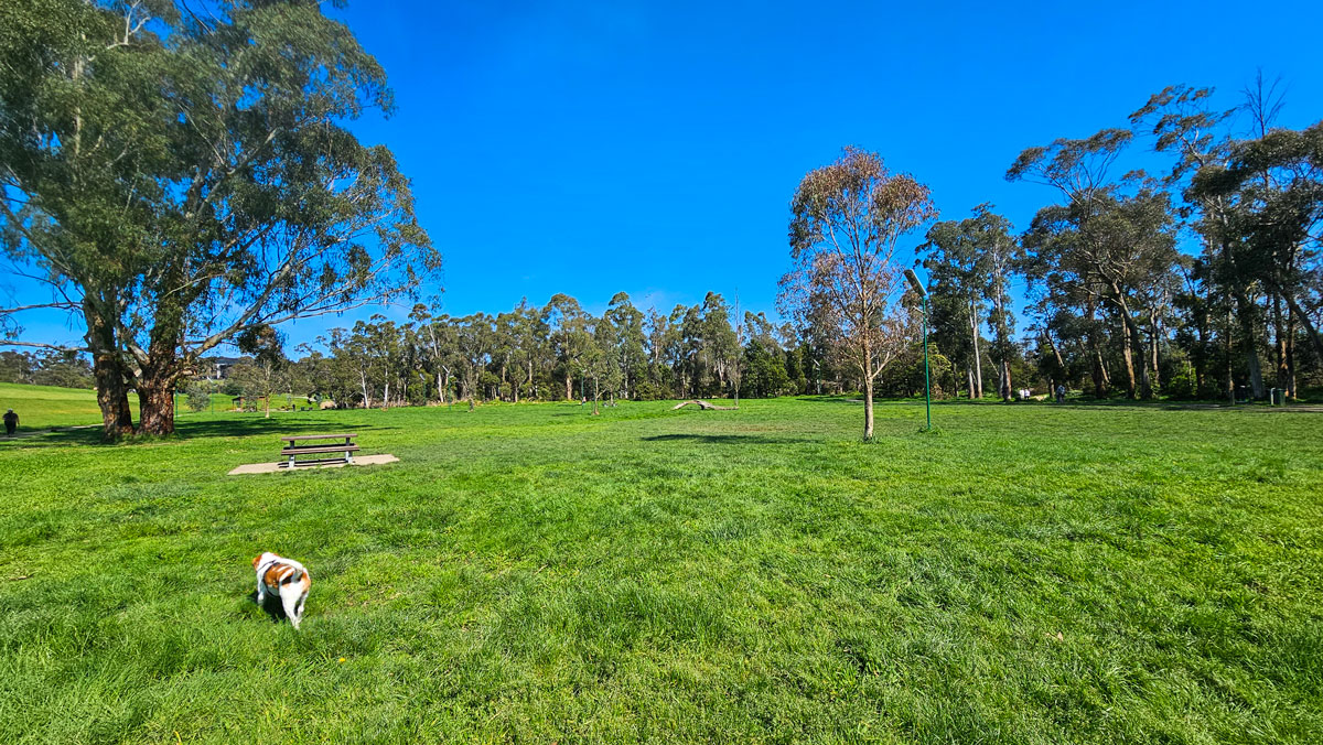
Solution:
[[[738,318],[738,324],[734,319]],[[639,310],[624,292],[594,316],[574,298],[527,300],[496,315],[433,315],[418,306],[406,323],[382,316],[332,329],[287,360],[278,340],[228,371],[220,385],[249,398],[284,393],[343,406],[455,401],[589,401],[693,397],[766,398],[857,389],[857,374],[812,333],[765,314],[736,312],[708,292],[669,314]],[[933,349],[934,369],[950,363]],[[1016,363],[1016,369],[1032,374]],[[893,363],[884,396],[923,390],[922,347]]]

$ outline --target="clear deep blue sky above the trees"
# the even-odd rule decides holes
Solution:
[[[390,77],[396,115],[355,130],[413,179],[454,315],[553,292],[601,311],[619,290],[663,311],[738,290],[770,312],[795,185],[847,144],[929,184],[943,218],[991,201],[1023,228],[1054,198],[1004,181],[1024,147],[1126,126],[1167,85],[1212,85],[1233,106],[1262,67],[1289,86],[1283,126],[1323,116],[1316,1],[893,5],[351,0],[337,13]],[[286,332],[299,343],[372,312]]]

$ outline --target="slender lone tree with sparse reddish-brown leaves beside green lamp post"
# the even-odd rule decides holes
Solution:
[[[892,173],[881,156],[847,147],[811,171],[791,200],[790,255],[781,304],[807,323],[835,331],[843,357],[864,384],[864,439],[873,437],[873,385],[904,351],[910,319],[893,296],[900,271],[896,243],[937,217],[929,188]]]

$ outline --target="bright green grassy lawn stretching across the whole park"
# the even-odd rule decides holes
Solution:
[[[1323,741],[1323,414],[922,414],[0,443],[0,742]],[[225,475],[347,429],[402,462]],[[312,573],[302,633],[246,599],[263,549]]]

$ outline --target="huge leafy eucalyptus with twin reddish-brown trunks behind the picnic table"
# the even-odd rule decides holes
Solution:
[[[438,266],[390,151],[345,128],[392,110],[385,74],[321,4],[40,0],[17,20],[41,46],[0,41],[7,243],[81,311],[108,434],[126,381],[142,430],[169,433],[209,349]]]

